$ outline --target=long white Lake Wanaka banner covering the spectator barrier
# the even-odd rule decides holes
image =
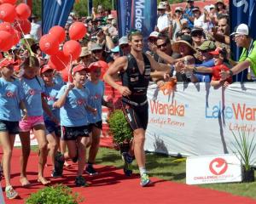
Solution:
[[[236,144],[232,132],[244,131],[250,139],[256,133],[255,95],[253,82],[226,89],[178,83],[170,95],[151,85],[145,150],[183,156],[232,153]]]

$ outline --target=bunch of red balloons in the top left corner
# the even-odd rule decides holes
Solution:
[[[31,23],[27,20],[31,15],[31,9],[26,3],[17,6],[17,0],[0,0],[0,50],[8,51],[20,42],[21,34],[31,31]]]

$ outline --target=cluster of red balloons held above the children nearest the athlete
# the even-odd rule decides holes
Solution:
[[[78,59],[81,53],[81,46],[78,40],[82,39],[87,30],[82,22],[74,22],[69,27],[70,40],[63,44],[62,50],[60,43],[65,41],[66,33],[61,26],[53,26],[49,33],[41,37],[39,47],[45,54],[49,54],[49,66],[56,71],[61,71],[64,81],[67,81],[68,71],[71,61]],[[70,77],[69,77],[70,78]]]

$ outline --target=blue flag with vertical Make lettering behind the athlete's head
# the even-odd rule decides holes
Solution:
[[[157,20],[156,0],[117,1],[119,37],[126,36],[132,29],[143,32],[144,42],[154,31]]]

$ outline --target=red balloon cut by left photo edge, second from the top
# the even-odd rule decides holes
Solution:
[[[15,6],[10,3],[3,3],[0,5],[0,20],[13,23],[15,22],[17,14]]]

